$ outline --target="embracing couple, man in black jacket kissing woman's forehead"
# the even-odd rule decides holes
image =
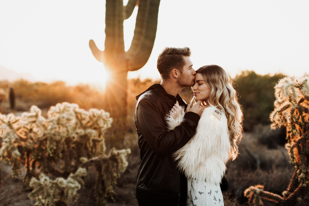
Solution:
[[[164,48],[157,61],[161,83],[136,97],[139,206],[224,205],[224,173],[238,155],[242,111],[225,70],[195,71],[190,55],[188,47]],[[188,86],[189,104],[178,94]]]

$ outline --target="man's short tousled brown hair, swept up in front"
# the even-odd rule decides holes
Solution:
[[[185,64],[183,56],[191,56],[190,48],[165,47],[162,50],[157,61],[157,69],[162,79],[168,79],[171,70],[174,68],[177,68],[180,72],[182,72]]]

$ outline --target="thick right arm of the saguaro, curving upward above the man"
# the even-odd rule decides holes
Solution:
[[[126,53],[129,71],[142,68],[150,57],[157,32],[159,4],[160,0],[139,3],[133,40]]]

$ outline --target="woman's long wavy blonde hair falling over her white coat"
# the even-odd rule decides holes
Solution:
[[[214,103],[214,106],[220,107],[220,109],[225,112],[231,144],[229,157],[234,160],[238,156],[237,144],[243,132],[243,112],[237,101],[236,91],[233,88],[233,81],[225,70],[218,65],[202,66],[196,70],[196,73],[204,77],[210,89],[209,99]],[[191,99],[191,103],[196,103],[195,97]],[[202,101],[201,106],[207,106],[207,103]]]

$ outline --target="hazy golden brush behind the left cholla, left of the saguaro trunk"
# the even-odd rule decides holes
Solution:
[[[8,91],[9,87],[15,90],[17,111],[28,110],[33,104],[39,108],[49,108],[60,102],[77,103],[83,109],[104,107],[104,93],[99,88],[87,84],[67,86],[62,81],[32,83],[23,79],[0,82],[0,89]],[[7,105],[2,107],[7,108]],[[7,109],[6,111],[4,113],[10,112]]]

